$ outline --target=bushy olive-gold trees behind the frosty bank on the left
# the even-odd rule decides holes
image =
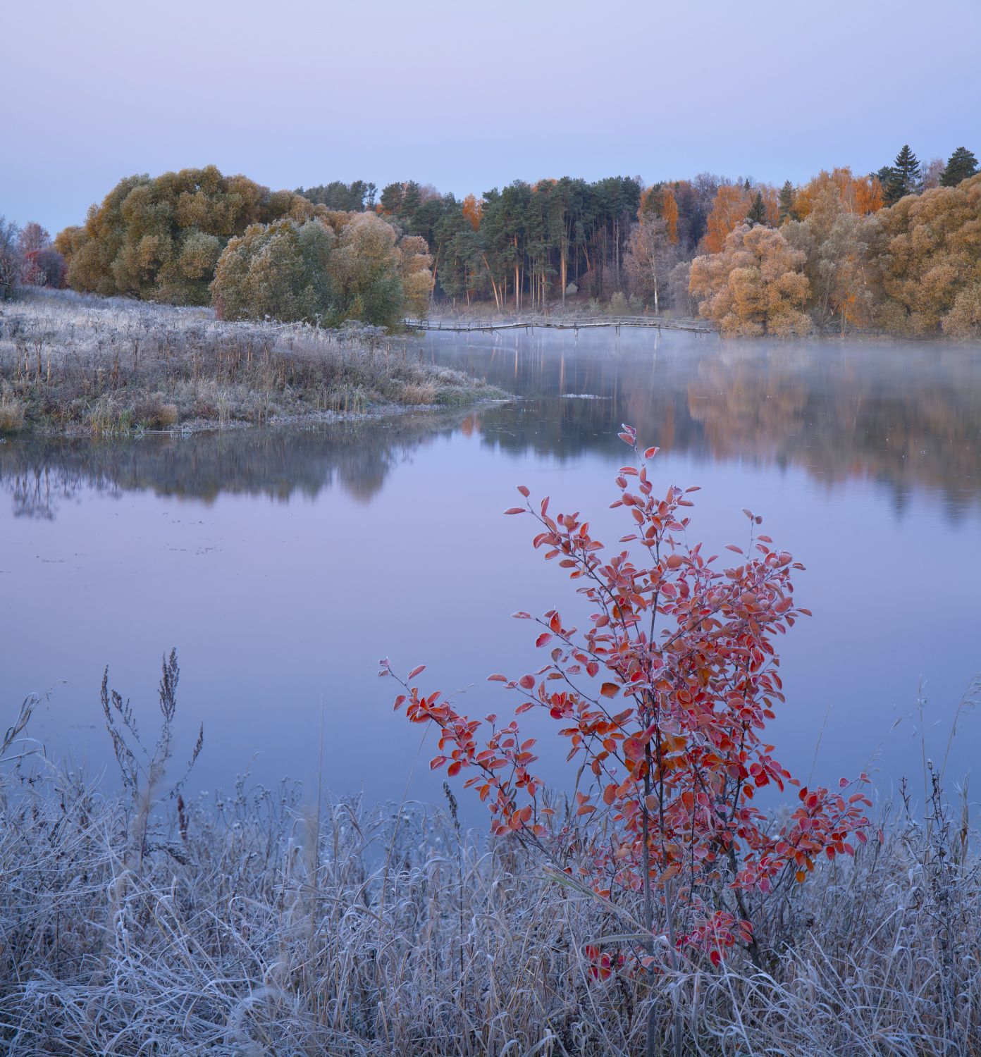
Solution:
[[[215,166],[121,180],[84,225],[53,242],[37,224],[3,230],[12,282],[214,304],[226,319],[395,326],[425,311],[432,286],[423,240],[383,217],[329,209]],[[30,254],[18,248],[29,233],[40,233],[42,247],[30,274]],[[45,254],[58,267],[38,275]]]

